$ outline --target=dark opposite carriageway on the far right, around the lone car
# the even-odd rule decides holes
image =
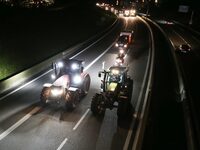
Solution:
[[[166,28],[165,28],[166,29]],[[180,44],[189,44],[192,47],[190,53],[181,54],[176,53],[177,60],[180,64],[181,70],[184,74],[184,79],[186,83],[187,90],[187,105],[190,108],[191,118],[193,121],[193,130],[196,136],[198,146],[200,139],[200,94],[199,94],[199,85],[200,85],[200,40],[197,35],[193,34],[187,29],[183,29],[179,25],[169,26],[168,30],[165,30],[168,34],[171,42],[176,47]]]

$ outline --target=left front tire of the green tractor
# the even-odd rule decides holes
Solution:
[[[105,114],[105,99],[102,94],[96,93],[92,98],[91,111],[94,115],[103,116]]]

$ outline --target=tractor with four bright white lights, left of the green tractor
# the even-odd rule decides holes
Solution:
[[[45,83],[40,95],[44,106],[52,101],[64,102],[67,109],[76,107],[80,99],[87,95],[90,88],[90,76],[83,72],[83,61],[62,59],[52,63],[53,83]]]

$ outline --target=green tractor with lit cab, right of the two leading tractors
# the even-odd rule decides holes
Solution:
[[[133,80],[127,72],[128,68],[124,66],[112,66],[108,71],[99,72],[99,77],[102,78],[101,92],[96,93],[91,102],[91,111],[94,115],[104,115],[106,108],[116,107],[115,102],[118,103],[118,117],[127,115],[133,89]]]

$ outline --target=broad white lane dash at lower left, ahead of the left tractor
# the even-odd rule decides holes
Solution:
[[[19,127],[22,123],[24,123],[26,120],[28,120],[33,114],[38,112],[40,109],[41,109],[41,107],[35,107],[27,115],[25,115],[23,118],[21,118],[19,121],[17,121],[14,125],[12,125],[10,128],[8,128],[3,133],[1,133],[0,141],[3,138],[5,138],[8,134],[10,134],[13,130],[15,130],[17,127]]]

